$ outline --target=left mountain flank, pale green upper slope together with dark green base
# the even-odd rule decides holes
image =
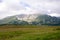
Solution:
[[[0,24],[21,24],[22,25],[28,23],[22,20],[18,20],[16,16],[10,16],[0,20]]]

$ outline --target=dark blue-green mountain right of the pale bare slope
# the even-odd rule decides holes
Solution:
[[[51,17],[49,15],[39,15],[35,22],[37,24],[44,24],[44,25],[60,25],[60,18],[58,17]]]

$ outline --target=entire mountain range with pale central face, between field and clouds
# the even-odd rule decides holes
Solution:
[[[0,20],[0,24],[60,25],[60,17],[45,14],[20,14]]]

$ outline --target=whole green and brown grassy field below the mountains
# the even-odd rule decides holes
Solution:
[[[60,40],[60,26],[1,25],[0,40]]]

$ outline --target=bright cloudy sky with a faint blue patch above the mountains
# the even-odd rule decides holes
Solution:
[[[0,19],[18,14],[60,16],[60,0],[0,0]]]

